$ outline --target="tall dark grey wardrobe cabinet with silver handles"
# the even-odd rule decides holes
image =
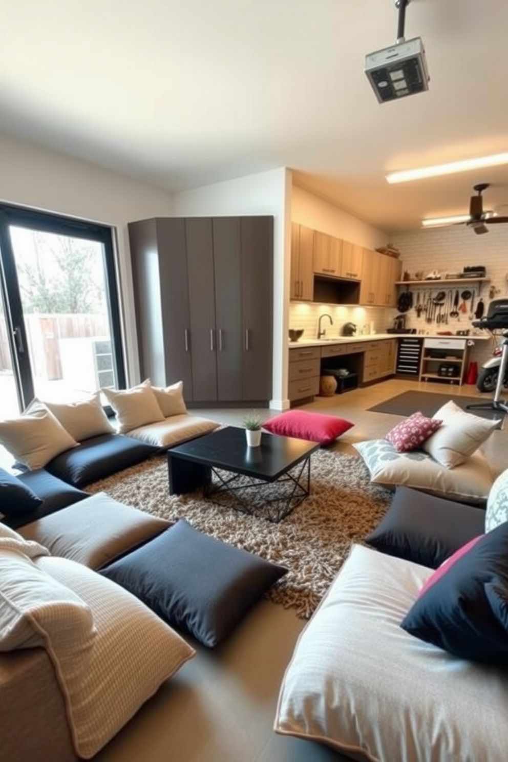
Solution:
[[[272,386],[273,218],[129,223],[139,363],[191,405],[264,405]]]

